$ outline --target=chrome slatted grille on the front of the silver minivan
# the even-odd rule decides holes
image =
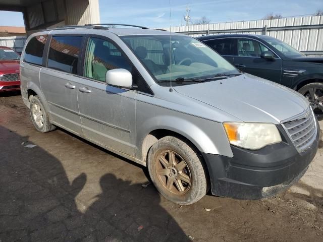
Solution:
[[[310,108],[283,126],[299,152],[310,146],[316,137],[315,117]]]

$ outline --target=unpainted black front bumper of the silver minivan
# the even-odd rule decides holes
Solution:
[[[316,122],[314,142],[299,153],[279,126],[283,142],[260,150],[231,146],[233,157],[202,153],[208,168],[211,192],[220,197],[260,199],[271,197],[296,183],[313,160],[319,142]]]

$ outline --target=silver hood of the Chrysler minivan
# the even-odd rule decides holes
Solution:
[[[249,74],[173,88],[244,122],[278,124],[303,112],[309,105],[296,91]]]

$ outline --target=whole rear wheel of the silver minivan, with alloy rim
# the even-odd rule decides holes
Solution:
[[[31,120],[36,130],[38,130],[41,133],[46,133],[55,130],[56,127],[50,123],[48,114],[39,96],[31,96],[29,104]]]

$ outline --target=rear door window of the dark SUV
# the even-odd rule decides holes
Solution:
[[[212,39],[205,41],[205,44],[216,50],[221,55],[236,55],[236,39]]]

